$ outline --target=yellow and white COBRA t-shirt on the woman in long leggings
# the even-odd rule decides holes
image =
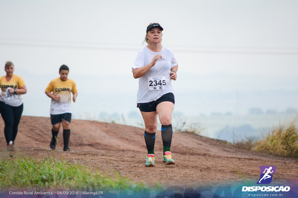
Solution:
[[[5,104],[8,104],[13,107],[18,107],[23,104],[23,99],[21,98],[21,94],[8,93],[8,89],[12,88],[20,88],[25,86],[25,82],[23,78],[17,75],[13,75],[13,77],[7,82],[6,76],[0,77],[0,87],[2,91],[1,101]]]

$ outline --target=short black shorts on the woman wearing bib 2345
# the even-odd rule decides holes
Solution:
[[[143,111],[143,112],[153,112],[153,111],[156,111],[156,106],[159,103],[165,102],[165,101],[173,102],[173,104],[175,104],[174,94],[173,93],[164,94],[156,101],[136,103],[136,107],[138,107],[140,111]]]

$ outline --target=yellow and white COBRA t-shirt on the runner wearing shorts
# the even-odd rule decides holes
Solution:
[[[60,96],[60,100],[52,99],[51,102],[51,115],[62,113],[72,113],[71,110],[71,94],[77,92],[75,81],[67,79],[66,81],[60,80],[60,77],[51,80],[46,91],[52,92],[54,95]]]

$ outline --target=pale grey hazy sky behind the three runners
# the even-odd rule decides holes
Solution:
[[[130,102],[126,111],[135,111],[131,65],[146,27],[157,22],[162,45],[179,63],[172,81],[176,111],[189,102],[219,101],[216,110],[226,112],[229,100],[298,108],[297,10],[296,0],[0,0],[0,68],[12,61],[26,83],[23,115],[49,114],[44,90],[62,64],[77,83],[78,104]]]

